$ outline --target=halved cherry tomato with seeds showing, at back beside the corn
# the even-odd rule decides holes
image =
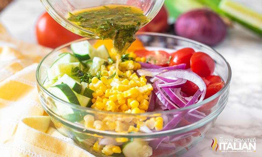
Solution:
[[[136,50],[134,53],[138,57],[145,57],[147,62],[150,64],[168,66],[167,62],[170,54],[166,51]]]

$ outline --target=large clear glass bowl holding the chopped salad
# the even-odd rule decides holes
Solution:
[[[199,42],[186,38],[166,35],[160,33],[139,32],[136,35],[148,49],[167,50],[169,52],[191,47],[196,51],[202,51],[210,55],[215,61],[214,74],[219,75],[225,82],[224,87],[212,97],[205,99],[203,102],[193,104],[191,106],[168,111],[146,112],[140,114],[125,114],[117,112],[98,111],[92,108],[74,105],[57,98],[52,95],[43,83],[46,80],[46,70],[53,64],[63,52],[71,52],[70,45],[74,42],[88,40],[91,44],[95,43],[95,39],[80,39],[62,45],[50,54],[44,57],[40,62],[37,72],[37,87],[39,99],[44,110],[48,113],[56,126],[57,130],[71,139],[83,149],[89,151],[95,156],[106,156],[101,151],[94,151],[94,145],[108,144],[119,145],[122,149],[127,142],[143,141],[143,144],[149,144],[153,148],[154,157],[179,156],[186,153],[205,137],[216,121],[218,115],[223,111],[228,101],[229,83],[231,79],[231,69],[228,62],[211,47]],[[72,53],[72,52],[71,52]],[[203,113],[198,118],[190,118],[190,114]],[[83,118],[85,115],[91,115],[95,119],[105,120],[109,122],[119,121],[122,127],[133,121],[146,121],[152,117],[163,117],[164,126],[172,121],[174,117],[178,117],[179,123],[170,130],[154,131],[148,133],[117,133],[114,131],[101,131],[85,127]],[[98,142],[97,142],[98,141]],[[168,141],[169,144],[175,145],[176,148],[160,147],[156,149],[160,141]],[[129,148],[130,151],[132,148]],[[140,150],[142,150],[141,148]],[[113,154],[112,156],[126,156],[123,153]],[[137,156],[145,157],[147,154]]]

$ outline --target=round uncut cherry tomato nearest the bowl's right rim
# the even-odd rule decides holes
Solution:
[[[206,77],[213,74],[215,62],[208,54],[196,52],[191,56],[190,66],[194,73]]]

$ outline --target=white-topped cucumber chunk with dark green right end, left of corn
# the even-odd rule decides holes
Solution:
[[[60,79],[57,80],[52,86],[56,86],[57,84],[67,84],[73,91],[76,93],[80,93],[80,90],[82,88],[82,84],[80,84],[75,79],[72,79],[67,74],[64,74]]]

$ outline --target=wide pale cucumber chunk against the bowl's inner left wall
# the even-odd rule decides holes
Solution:
[[[58,79],[59,76],[64,74],[70,75],[71,69],[76,67],[81,67],[80,62],[56,64],[47,69],[48,80]]]

